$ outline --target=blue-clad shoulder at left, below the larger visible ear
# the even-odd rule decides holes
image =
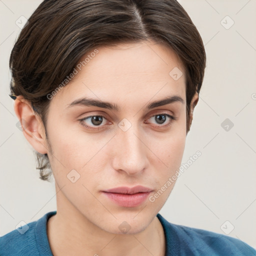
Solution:
[[[47,244],[46,221],[48,212],[36,221],[24,223],[0,237],[0,256],[39,256],[40,244]],[[44,244],[43,244],[44,245]],[[48,254],[47,254],[48,255]]]

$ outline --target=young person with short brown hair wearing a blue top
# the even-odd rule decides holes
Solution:
[[[10,95],[57,210],[0,237],[0,255],[255,255],[158,213],[204,68],[175,0],[44,0],[11,51]]]

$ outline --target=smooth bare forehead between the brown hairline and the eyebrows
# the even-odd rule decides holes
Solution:
[[[185,70],[170,47],[146,41],[98,47],[91,52],[80,58],[76,74],[52,101],[66,106],[81,96],[148,101],[167,94],[185,100]],[[173,79],[172,70],[182,75]]]

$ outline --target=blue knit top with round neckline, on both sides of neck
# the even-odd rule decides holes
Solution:
[[[52,256],[46,227],[50,211],[37,221],[30,222],[0,237],[0,256]],[[251,256],[256,250],[227,235],[168,222],[156,215],[164,230],[165,256]]]

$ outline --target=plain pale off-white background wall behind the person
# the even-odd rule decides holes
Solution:
[[[8,96],[8,58],[20,32],[15,21],[28,18],[40,2],[0,0],[0,235],[56,209],[54,182],[38,178],[32,147],[15,126]],[[233,225],[228,235],[256,247],[256,1],[179,2],[207,55],[182,163],[197,150],[202,155],[180,175],[160,213],[170,222],[223,234]],[[223,26],[231,24],[226,15],[234,21],[229,29]],[[226,118],[234,124],[228,131],[220,125]]]

